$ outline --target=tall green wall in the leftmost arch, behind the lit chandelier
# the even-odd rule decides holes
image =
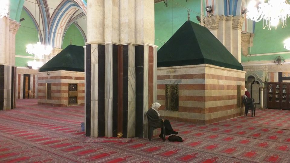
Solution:
[[[15,38],[15,54],[20,56],[33,56],[26,53],[26,45],[30,43],[36,43],[38,41],[38,30],[36,29],[32,18],[27,14],[25,10],[21,11],[21,18],[25,18],[21,21],[21,26],[19,27],[16,38]],[[27,58],[15,58],[15,66],[26,67]]]

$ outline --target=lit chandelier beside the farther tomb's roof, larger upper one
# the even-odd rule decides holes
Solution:
[[[36,44],[28,44],[26,53],[34,55],[34,59],[44,59],[44,55],[49,55],[52,51],[52,46],[42,45],[41,42]]]

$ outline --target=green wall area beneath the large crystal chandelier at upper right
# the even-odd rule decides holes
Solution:
[[[287,22],[290,22],[290,18],[287,19]],[[285,39],[290,37],[290,25],[288,24],[284,29],[280,24],[277,27],[277,30],[274,29],[275,27],[271,27],[272,30],[268,30],[268,28],[263,29],[263,20],[256,22],[253,46],[249,48],[249,56],[245,57],[242,55],[242,62],[262,60],[269,60],[272,62],[277,56],[282,56],[284,59],[290,59],[290,52],[284,49],[283,43]],[[289,54],[255,56],[255,54],[279,52],[289,52]]]

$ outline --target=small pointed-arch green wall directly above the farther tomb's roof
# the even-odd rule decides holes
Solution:
[[[66,46],[68,46],[69,44],[85,46],[84,37],[82,36],[82,33],[79,31],[75,24],[71,24],[66,30],[66,33],[63,37],[62,49],[66,48]]]

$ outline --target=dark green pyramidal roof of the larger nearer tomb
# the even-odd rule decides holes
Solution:
[[[210,64],[243,70],[243,66],[206,28],[186,21],[158,50],[157,67]]]

